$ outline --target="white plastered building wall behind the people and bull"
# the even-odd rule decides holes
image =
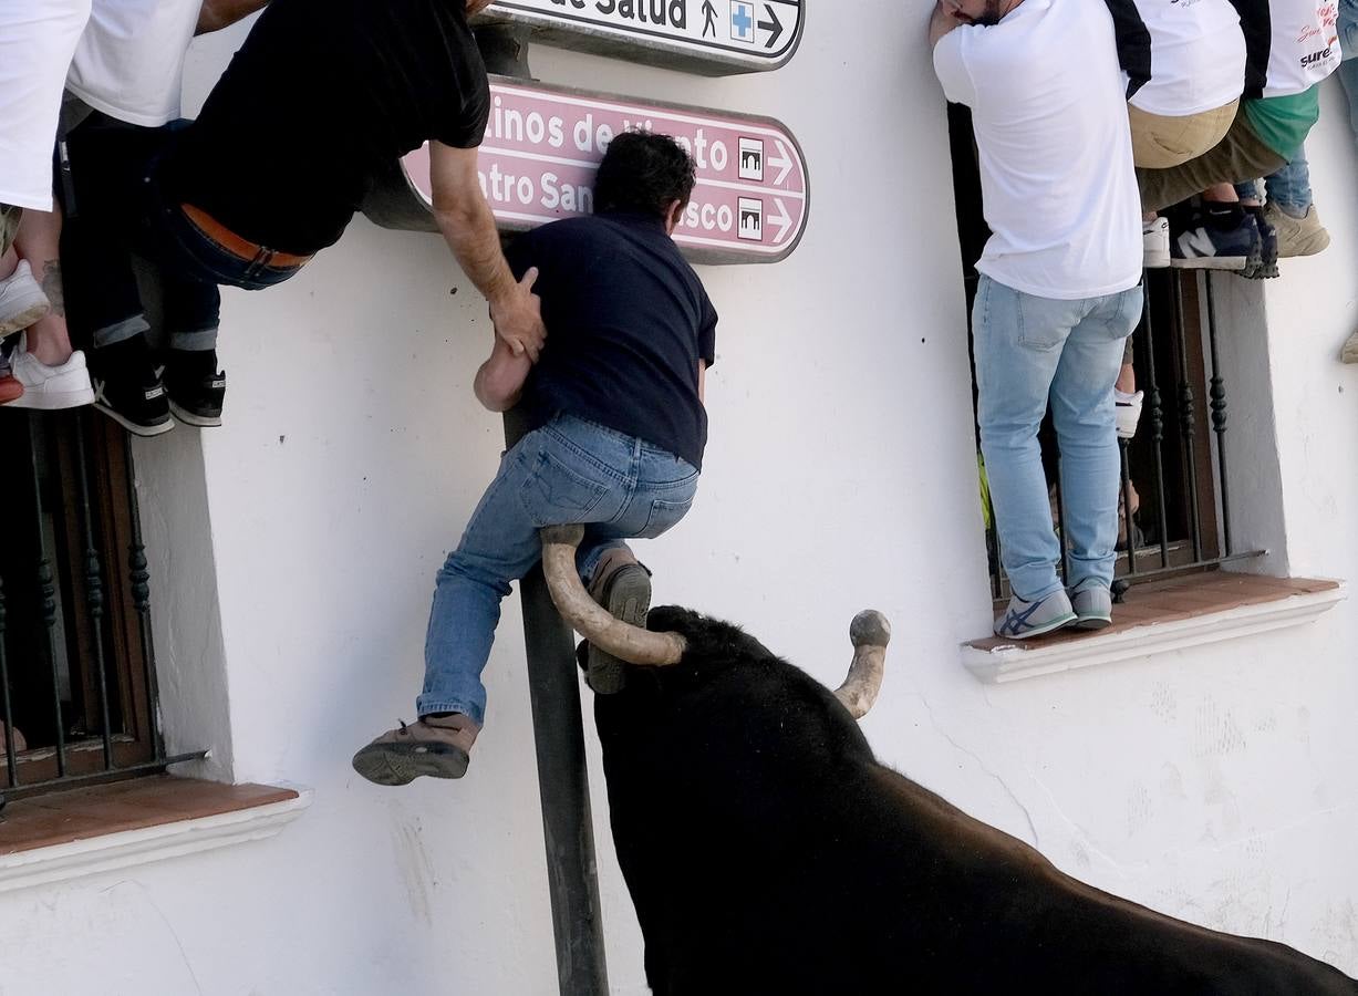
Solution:
[[[884,761],[1089,882],[1355,973],[1358,610],[1004,688],[959,663],[990,602],[928,8],[815,4],[797,57],[758,77],[532,53],[553,83],[778,117],[811,167],[786,262],[702,272],[722,315],[712,444],[689,520],[645,549],[656,598],[736,620],[827,683],[853,613],[884,610],[891,670],[865,722]],[[204,49],[194,92],[227,50]],[[1327,91],[1312,144],[1335,245],[1285,262],[1263,299],[1277,420],[1248,385],[1228,391],[1232,425],[1278,442],[1281,481],[1260,469],[1251,514],[1294,573],[1342,577],[1358,550],[1358,370],[1335,357],[1358,321],[1358,204],[1339,105]],[[284,287],[225,292],[224,329],[227,425],[202,435],[201,465],[191,429],[139,447],[144,515],[167,523],[162,664],[224,662],[194,707],[202,736],[236,780],[311,785],[315,803],[273,841],[0,897],[0,993],[554,992],[513,599],[467,779],[379,789],[349,768],[413,715],[432,576],[496,466],[498,421],[470,391],[483,303],[435,236],[360,219]],[[1264,334],[1241,323],[1225,348]],[[200,514],[181,507],[194,492]],[[209,522],[220,641],[197,636],[216,625],[210,599],[177,594],[205,567],[174,552],[201,550]],[[595,811],[610,978],[640,993],[598,792]]]

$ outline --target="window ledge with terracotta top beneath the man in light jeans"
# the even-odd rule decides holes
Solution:
[[[1032,641],[990,637],[961,645],[961,662],[986,683],[1169,654],[1313,622],[1347,597],[1340,582],[1218,572],[1138,584],[1114,606],[1114,625]]]

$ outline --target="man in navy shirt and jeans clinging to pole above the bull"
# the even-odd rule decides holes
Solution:
[[[520,406],[532,431],[505,454],[439,571],[420,722],[354,754],[371,781],[463,775],[485,720],[481,671],[500,601],[542,556],[540,527],[585,523],[580,576],[614,616],[645,625],[650,582],[626,539],[683,518],[708,442],[717,313],[671,239],[693,186],[693,159],[672,139],[626,132],[599,167],[599,213],[538,228],[511,250],[516,273],[540,272],[551,338],[536,366],[497,338],[475,391],[493,412]],[[591,647],[596,692],[619,667]]]

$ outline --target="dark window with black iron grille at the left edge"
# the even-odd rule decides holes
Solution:
[[[151,576],[125,432],[0,413],[0,804],[162,772]]]

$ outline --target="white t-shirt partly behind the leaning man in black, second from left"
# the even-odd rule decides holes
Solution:
[[[94,0],[67,88],[95,110],[155,128],[179,117],[200,0]]]

